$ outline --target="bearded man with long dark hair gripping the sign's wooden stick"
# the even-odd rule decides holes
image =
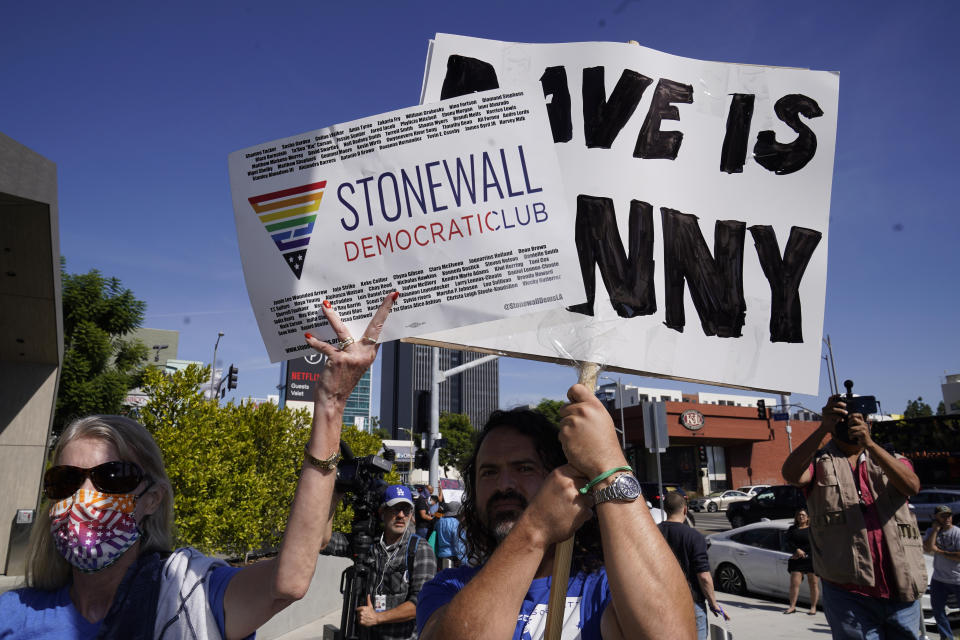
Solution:
[[[542,638],[555,546],[574,534],[563,638],[695,637],[690,591],[609,414],[583,385],[568,397],[559,433],[532,411],[491,415],[464,474],[480,564],[424,586],[421,638]]]

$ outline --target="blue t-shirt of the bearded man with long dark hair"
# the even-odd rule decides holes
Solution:
[[[460,567],[441,571],[420,590],[417,601],[417,633],[430,616],[470,582],[479,567]],[[550,600],[552,577],[537,578],[523,597],[517,614],[513,640],[539,640],[547,624],[547,603]],[[610,603],[610,585],[604,569],[570,576],[567,586],[567,607],[563,614],[563,640],[600,640],[600,617]]]

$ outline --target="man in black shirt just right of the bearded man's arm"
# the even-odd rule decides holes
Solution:
[[[668,493],[663,499],[667,519],[657,525],[666,539],[680,568],[687,578],[690,595],[693,596],[693,612],[697,621],[697,637],[707,640],[707,606],[715,616],[729,620],[730,616],[720,607],[713,590],[710,576],[710,561],[707,559],[707,541],[703,534],[687,524],[687,501],[677,492]]]

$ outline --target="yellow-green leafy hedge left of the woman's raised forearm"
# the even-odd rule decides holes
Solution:
[[[201,391],[209,367],[146,372],[138,418],[173,485],[177,544],[243,557],[280,543],[310,435],[305,410],[218,406]]]

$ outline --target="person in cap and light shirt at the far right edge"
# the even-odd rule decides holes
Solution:
[[[960,599],[960,527],[953,524],[953,511],[942,504],[933,511],[933,525],[923,539],[923,550],[933,554],[930,605],[941,640],[953,640],[947,618],[947,597]]]

